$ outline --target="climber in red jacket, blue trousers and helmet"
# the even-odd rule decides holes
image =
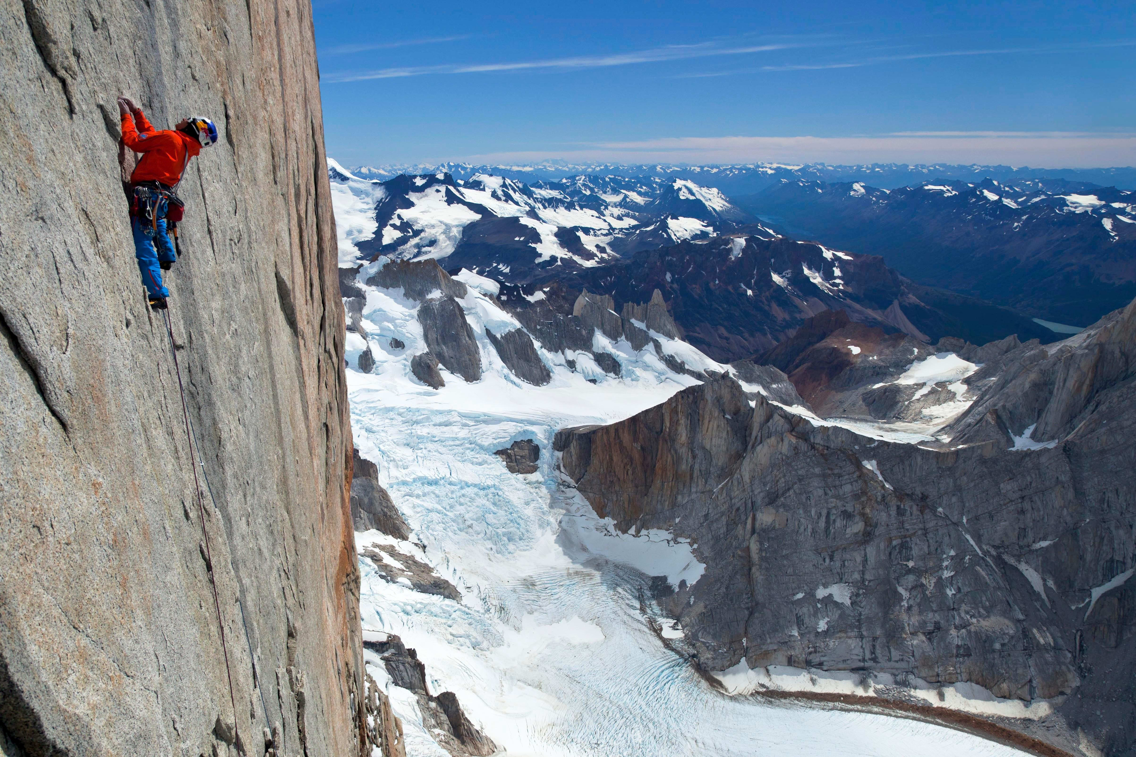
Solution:
[[[168,232],[174,230],[177,236],[176,225],[184,207],[175,190],[190,158],[217,141],[217,127],[208,118],[190,116],[178,121],[174,131],[159,132],[130,98],[118,99],[118,112],[123,119],[123,143],[142,153],[131,174],[128,192],[134,255],[150,306],[165,310],[169,289],[161,284],[161,271],[169,270],[177,260]]]

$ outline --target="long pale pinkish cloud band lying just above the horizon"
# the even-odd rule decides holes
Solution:
[[[475,162],[526,160],[743,163],[1003,163],[1049,168],[1136,166],[1136,134],[1083,132],[909,132],[850,136],[665,137],[561,149],[466,155]]]

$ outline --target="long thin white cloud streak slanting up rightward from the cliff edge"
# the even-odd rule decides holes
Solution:
[[[520,60],[500,64],[476,65],[442,65],[409,66],[401,68],[379,68],[367,72],[342,72],[328,74],[326,82],[364,82],[379,78],[400,78],[404,76],[423,76],[425,74],[484,74],[493,72],[516,72],[534,69],[574,70],[584,68],[605,68],[610,66],[629,66],[667,60],[688,60],[693,58],[711,58],[719,56],[743,56],[755,52],[770,52],[817,44],[817,42],[779,42],[770,44],[750,44],[741,47],[718,47],[705,42],[699,44],[676,44],[651,50],[620,52],[601,56],[574,56],[570,58],[549,58],[545,60]]]

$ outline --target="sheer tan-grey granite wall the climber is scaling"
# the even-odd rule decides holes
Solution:
[[[282,755],[358,754],[309,3],[2,7],[0,754],[260,755],[266,725]],[[220,624],[166,323],[119,186],[119,94],[158,128],[193,113],[222,134],[181,186],[186,254],[167,278]]]

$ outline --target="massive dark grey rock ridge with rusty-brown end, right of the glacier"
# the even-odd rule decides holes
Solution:
[[[1076,739],[1062,734],[1081,729],[1126,754],[1134,329],[1136,303],[1075,339],[1006,353],[1006,378],[955,422],[955,446],[816,427],[721,379],[561,431],[556,449],[601,516],[698,545],[705,574],[659,600],[703,667],[745,657],[971,682],[1053,699],[1047,721],[1014,727],[1067,749]],[[1054,446],[1010,449],[1005,429],[1027,421]],[[958,446],[979,431],[985,441]]]

